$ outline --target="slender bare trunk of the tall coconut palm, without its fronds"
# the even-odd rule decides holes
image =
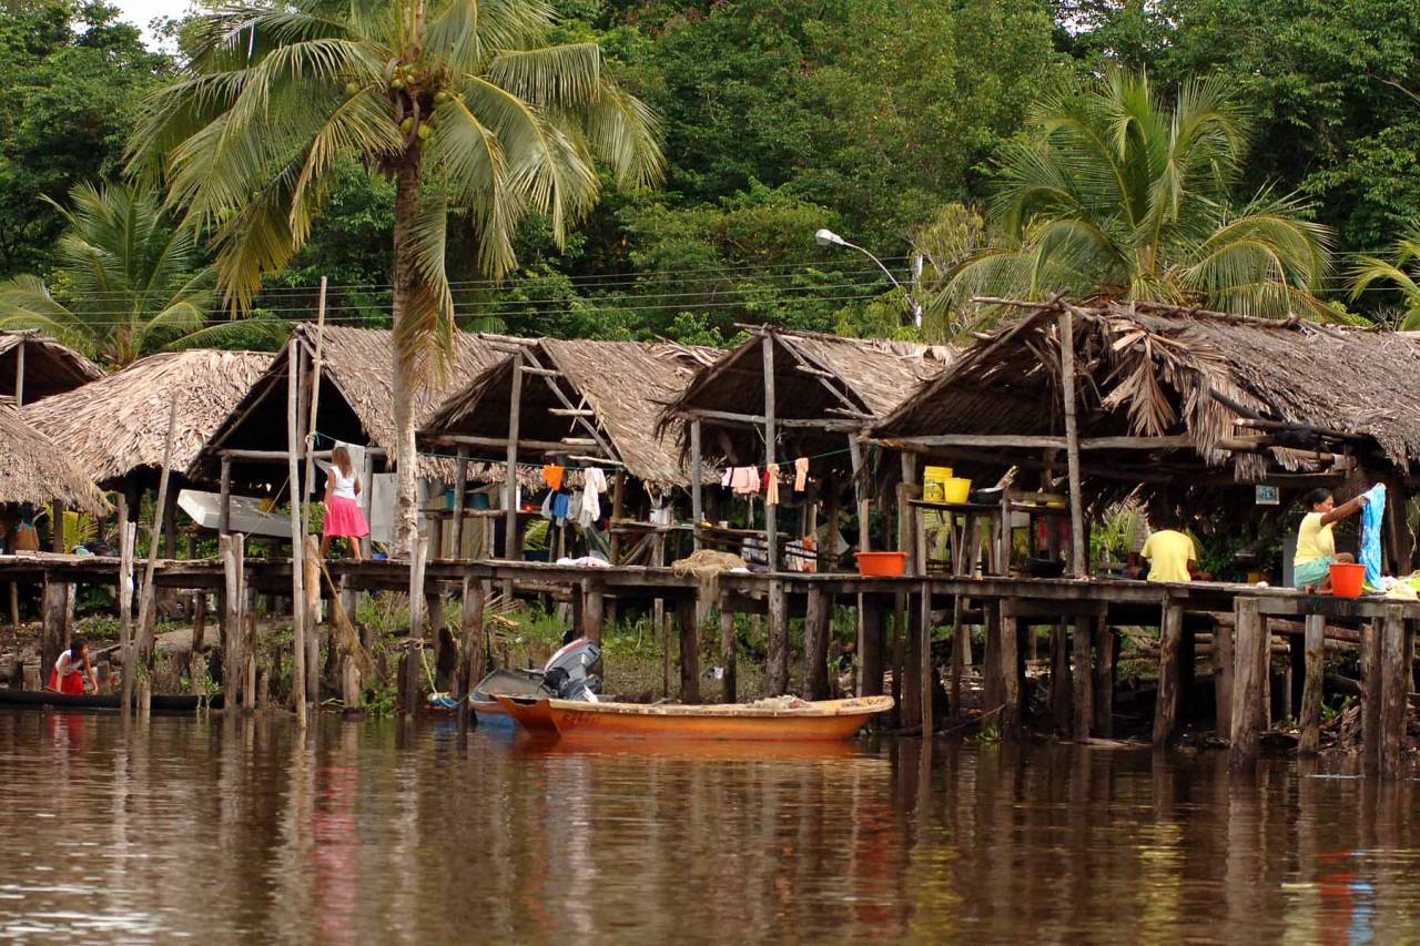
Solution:
[[[395,554],[410,558],[417,531],[417,456],[415,453],[413,395],[417,364],[400,355],[399,337],[405,324],[413,317],[410,308],[419,294],[419,270],[415,264],[415,247],[410,230],[419,213],[419,148],[410,146],[395,172],[395,347],[393,398],[395,398],[395,463],[396,497],[395,511]]]

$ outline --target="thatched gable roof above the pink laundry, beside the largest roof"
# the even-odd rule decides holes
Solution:
[[[843,433],[870,425],[936,378],[954,358],[951,348],[879,338],[760,327],[670,403],[663,422],[699,418],[701,450],[731,463],[763,456],[765,345],[774,352],[774,412],[781,425],[780,456],[843,449]],[[736,418],[740,419],[736,419]],[[808,426],[815,422],[814,426]],[[689,450],[682,433],[682,447]]]

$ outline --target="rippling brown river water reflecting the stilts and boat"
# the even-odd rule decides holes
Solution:
[[[1417,783],[919,741],[538,747],[442,722],[0,713],[0,939],[1362,943]]]

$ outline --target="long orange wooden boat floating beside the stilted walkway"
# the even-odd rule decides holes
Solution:
[[[557,739],[656,739],[687,741],[812,743],[851,739],[873,716],[892,709],[890,696],[784,706],[721,703],[582,703],[535,696],[497,696],[528,733]]]

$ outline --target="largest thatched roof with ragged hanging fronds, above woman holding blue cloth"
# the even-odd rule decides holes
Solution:
[[[983,338],[875,435],[1062,436],[1062,305],[1031,307]],[[1305,469],[1298,447],[1369,453],[1402,470],[1420,460],[1411,338],[1145,303],[1069,308],[1082,439],[1172,437],[1194,463],[1233,462],[1245,480],[1269,463]],[[1098,474],[1150,463],[1140,450],[1086,459]]]

